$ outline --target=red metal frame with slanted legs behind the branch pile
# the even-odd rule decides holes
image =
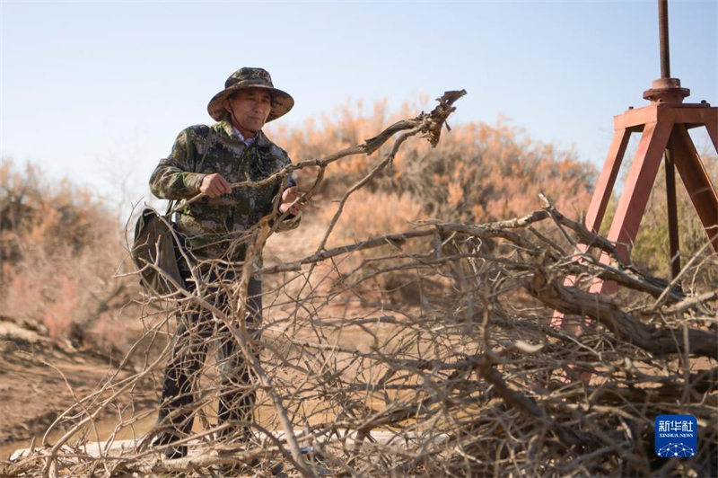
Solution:
[[[628,140],[632,133],[642,133],[608,235],[609,241],[616,244],[618,254],[624,261],[628,259],[630,248],[635,242],[666,150],[670,151],[672,163],[686,186],[705,233],[718,252],[718,195],[687,131],[689,128],[705,126],[718,152],[718,108],[705,102],[683,104],[682,99],[687,96],[688,90],[679,85],[679,80],[675,78],[656,80],[653,89],[644,93],[644,97],[652,100],[652,104],[637,110],[629,109],[614,117],[615,133],[591,198],[585,225],[594,233],[599,232],[618,170],[626,154]],[[588,245],[580,244],[575,253],[580,256],[588,248]],[[609,255],[602,254],[600,261],[608,263]],[[567,277],[564,284],[573,286],[574,281],[574,277]],[[613,282],[595,279],[590,290],[611,294],[616,288]],[[562,314],[556,312],[552,324],[560,327],[562,317]]]

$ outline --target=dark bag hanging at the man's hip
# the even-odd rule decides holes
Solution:
[[[170,211],[171,204],[165,216],[160,216],[153,208],[144,208],[135,224],[135,240],[130,255],[140,271],[140,284],[150,295],[166,296],[177,292],[177,286],[168,277],[184,287]]]

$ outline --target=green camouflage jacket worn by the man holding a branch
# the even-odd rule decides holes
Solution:
[[[230,183],[258,181],[286,164],[290,164],[286,152],[261,131],[247,146],[227,121],[191,126],[180,133],[171,155],[155,168],[150,189],[158,198],[190,199],[199,193],[207,174],[220,173]],[[233,188],[232,193],[218,198],[202,197],[178,211],[177,232],[197,259],[243,261],[251,241],[245,231],[272,212],[281,182]],[[285,178],[285,187],[293,184],[291,176]],[[288,217],[276,225],[276,230],[293,229],[300,219]]]

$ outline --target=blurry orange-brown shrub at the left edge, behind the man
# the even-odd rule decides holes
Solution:
[[[123,256],[117,217],[71,181],[48,181],[35,165],[0,165],[0,309],[80,344],[97,332]],[[107,324],[101,326],[106,329]],[[121,335],[95,337],[118,342]]]

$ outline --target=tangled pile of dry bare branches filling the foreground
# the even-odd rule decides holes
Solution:
[[[428,131],[437,139],[443,120]],[[416,123],[402,127],[422,132]],[[212,476],[218,466],[258,459],[253,473],[282,463],[290,475],[718,474],[718,289],[702,280],[714,277],[716,257],[696,258],[668,284],[619,261],[612,244],[549,204],[512,220],[424,221],[327,247],[346,200],[408,136],[346,190],[314,253],[257,272],[265,281],[259,336],[232,321],[243,315],[249,271],[230,291],[236,307],[214,311],[246,359],[250,348],[261,350],[253,385],[235,385],[258,394],[249,443],[219,438],[214,404],[227,385],[219,384],[221,364],[208,364],[191,391],[198,420],[186,438],[190,455],[163,460],[149,447],[156,430],[143,433],[137,423],[156,410],[120,406],[118,397],[156,393],[169,344],[157,354],[131,350],[145,358],[135,376],[109,377],[78,398],[55,424],[64,435],[37,444],[4,473]],[[336,159],[313,162],[317,182]],[[268,232],[268,224],[254,232],[255,253]],[[581,261],[577,243],[592,247]],[[598,252],[609,253],[610,265],[595,259]],[[566,276],[576,278],[574,287],[564,285]],[[585,292],[597,278],[617,282],[619,293]],[[186,293],[168,306],[174,313],[200,300]],[[552,328],[554,310],[583,323],[582,333]],[[171,314],[144,321],[143,344],[173,328]],[[590,380],[577,379],[586,372]],[[107,410],[117,426],[91,449],[87,441],[99,437],[93,420]],[[656,457],[653,423],[661,414],[696,416],[696,456]],[[112,447],[127,430],[135,439]]]

